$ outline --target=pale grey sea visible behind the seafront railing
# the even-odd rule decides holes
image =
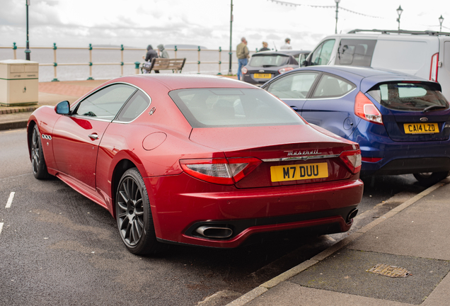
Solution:
[[[40,64],[53,64],[54,54],[53,49],[33,49],[30,48],[30,60],[33,62],[39,62]],[[169,57],[175,58],[174,49],[166,49]],[[16,50],[16,57],[18,60],[25,60],[25,49],[19,47]],[[93,79],[113,79],[115,77],[121,77],[120,65],[98,65],[96,63],[120,63],[121,51],[117,50],[104,50],[95,47],[92,50],[92,77]],[[251,53],[251,52],[250,52]],[[146,54],[146,50],[124,50],[123,62],[123,75],[135,74],[135,65],[127,64],[134,62],[144,62],[142,56]],[[208,50],[204,47],[200,51],[200,60],[198,49],[183,49],[176,52],[177,58],[186,58],[185,67],[183,68],[183,74],[197,74],[199,73],[200,61],[200,74],[228,74],[229,73],[229,50]],[[219,65],[219,55],[221,64]],[[0,48],[0,60],[12,60],[14,58],[13,49]],[[59,81],[79,81],[86,80],[89,77],[89,50],[86,49],[57,49],[57,77]],[[208,63],[207,63],[208,62]],[[61,64],[68,63],[84,63],[83,66],[64,66]],[[211,64],[210,64],[211,63]],[[238,70],[238,60],[236,58],[236,52],[233,51],[231,71],[236,74]],[[163,71],[161,73],[172,73],[171,71]],[[52,81],[54,79],[54,67],[53,66],[40,66],[39,67],[39,81]]]

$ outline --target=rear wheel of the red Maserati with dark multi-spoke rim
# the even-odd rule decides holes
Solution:
[[[148,255],[161,251],[156,234],[149,196],[137,168],[128,169],[120,179],[115,196],[117,228],[122,242],[133,254]]]

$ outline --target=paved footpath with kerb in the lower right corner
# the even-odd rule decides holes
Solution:
[[[447,178],[228,306],[450,305],[449,199]]]

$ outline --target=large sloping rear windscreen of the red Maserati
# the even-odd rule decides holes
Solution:
[[[169,96],[192,128],[305,124],[262,89],[178,89]]]

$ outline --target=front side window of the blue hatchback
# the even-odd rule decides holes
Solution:
[[[267,91],[278,98],[306,98],[318,73],[299,72],[273,81]]]

